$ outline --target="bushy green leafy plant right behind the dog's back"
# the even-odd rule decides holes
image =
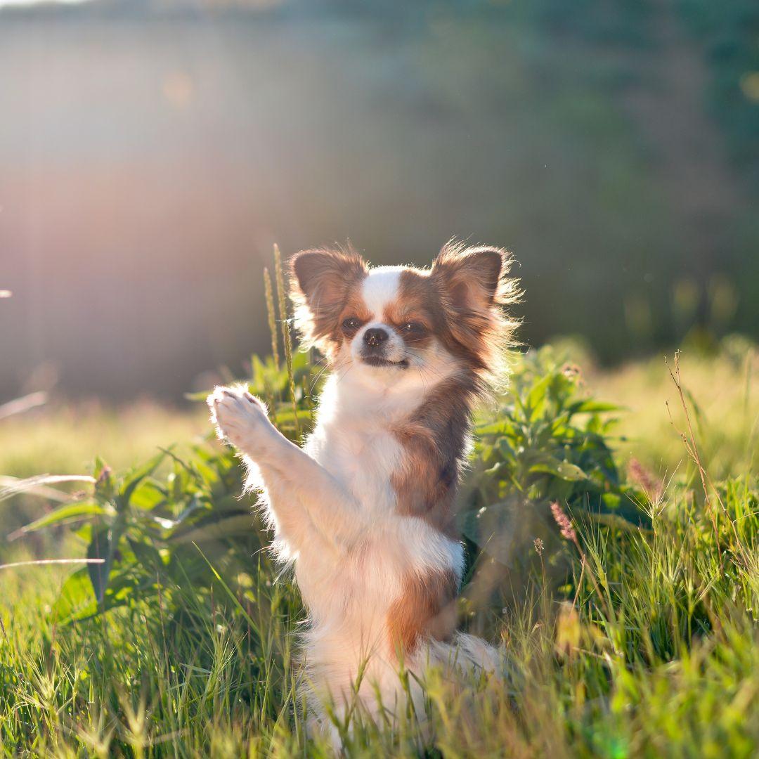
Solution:
[[[575,518],[635,531],[647,523],[644,493],[622,481],[611,444],[613,404],[589,397],[580,370],[550,346],[515,357],[509,392],[481,411],[471,471],[461,490],[471,613],[521,597],[542,566],[565,582],[550,504]],[[534,550],[546,549],[547,563]]]

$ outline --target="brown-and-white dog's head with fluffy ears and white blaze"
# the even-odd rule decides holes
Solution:
[[[291,298],[304,345],[334,366],[390,384],[408,370],[445,376],[499,371],[513,324],[510,258],[495,247],[449,243],[430,269],[370,268],[351,249],[304,250],[291,260]]]

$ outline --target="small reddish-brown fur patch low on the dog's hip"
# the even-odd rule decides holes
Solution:
[[[412,652],[420,639],[448,640],[456,628],[457,586],[450,570],[430,569],[408,575],[388,612],[390,646]]]

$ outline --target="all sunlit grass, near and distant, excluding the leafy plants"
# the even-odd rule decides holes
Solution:
[[[752,449],[759,408],[751,361],[735,361],[729,351],[682,358],[692,441],[663,360],[582,375],[581,389],[629,409],[609,441],[622,465],[630,455],[642,462],[630,478],[638,481],[645,524],[603,523],[591,511],[572,511],[576,543],[546,537],[541,548],[529,534],[519,544],[516,558],[531,571],[519,575],[512,597],[462,603],[465,625],[501,641],[508,674],[454,691],[430,673],[428,756],[756,755],[759,495]],[[529,395],[521,376],[518,369],[515,391]],[[0,434],[17,447],[0,439],[0,471],[52,470],[51,450],[60,457],[58,471],[82,471],[88,448],[109,445],[106,452],[123,465],[171,434],[186,439],[203,430],[203,412],[91,411],[75,426],[77,413],[52,408],[34,420],[18,418],[11,430],[6,425]],[[708,497],[676,429],[698,446]],[[234,474],[224,472],[219,481]],[[220,503],[219,481],[211,490]],[[225,482],[224,492],[235,493],[238,480]],[[81,535],[54,535],[57,545],[18,541],[4,546],[2,557],[84,555]],[[294,691],[294,632],[303,613],[291,582],[257,545],[231,563],[205,548],[200,556],[194,546],[182,556],[176,572],[155,576],[150,593],[123,585],[128,603],[71,623],[60,598],[70,568],[0,569],[6,756],[329,755],[328,746],[305,737]],[[219,577],[200,583],[193,564],[206,558]],[[345,732],[346,753],[424,755],[419,736],[413,715],[394,729],[357,720],[354,732]]]

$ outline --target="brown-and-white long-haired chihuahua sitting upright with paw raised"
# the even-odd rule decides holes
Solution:
[[[510,263],[499,248],[455,242],[430,269],[370,268],[351,248],[296,254],[295,326],[330,370],[313,432],[294,445],[244,386],[209,395],[219,438],[262,494],[272,550],[294,565],[309,616],[309,728],[336,745],[325,704],[338,717],[355,698],[375,719],[398,714],[401,666],[498,668],[495,649],[456,631],[455,496],[472,409],[504,373]],[[410,690],[420,701],[417,679]]]

